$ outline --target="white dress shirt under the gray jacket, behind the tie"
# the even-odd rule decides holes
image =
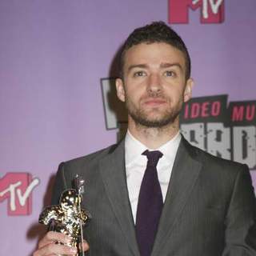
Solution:
[[[166,193],[170,182],[171,170],[174,166],[174,159],[177,154],[178,145],[181,141],[181,134],[178,132],[169,142],[160,146],[158,149],[163,156],[158,161],[158,180],[162,190],[163,202],[166,199]],[[126,158],[126,179],[130,198],[130,206],[136,223],[136,213],[138,206],[138,194],[142,183],[142,178],[146,170],[147,158],[142,153],[148,149],[142,142],[139,142],[129,130],[126,134],[125,141],[125,158]]]

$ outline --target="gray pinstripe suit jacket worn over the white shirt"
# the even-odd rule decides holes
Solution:
[[[75,174],[86,180],[90,256],[139,256],[126,186],[124,141],[59,166],[53,204]],[[86,255],[87,255],[86,254]],[[152,256],[256,255],[256,200],[246,165],[215,158],[184,138]]]

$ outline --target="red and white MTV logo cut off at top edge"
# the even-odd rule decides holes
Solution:
[[[189,23],[189,8],[201,8],[201,23],[224,21],[224,0],[169,0],[169,23]]]

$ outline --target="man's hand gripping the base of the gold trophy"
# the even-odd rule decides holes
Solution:
[[[58,244],[56,242],[62,242]],[[49,231],[39,241],[38,250],[36,250],[33,256],[50,256],[50,255],[75,255],[77,254],[77,248],[67,246],[70,242],[70,238],[66,234],[59,232]],[[89,250],[89,245],[86,241],[82,243],[83,250]]]

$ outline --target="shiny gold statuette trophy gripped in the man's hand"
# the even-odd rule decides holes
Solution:
[[[78,256],[84,255],[79,245],[83,241],[82,226],[90,219],[90,214],[81,209],[84,180],[78,174],[74,178],[74,186],[75,189],[63,191],[59,205],[47,206],[42,210],[38,222],[49,226],[49,230],[67,234],[71,238],[68,246],[76,247]]]

